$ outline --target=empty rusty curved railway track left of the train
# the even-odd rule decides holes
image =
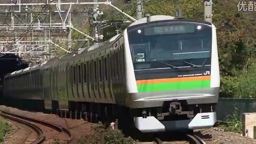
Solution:
[[[62,133],[62,132],[65,133],[65,135],[67,135],[69,137],[65,141],[71,141],[71,139],[72,139],[71,132],[66,127],[62,127],[60,125],[57,125],[57,124],[54,124],[51,122],[46,122],[41,119],[12,114],[12,113],[9,113],[6,111],[1,111],[0,115],[5,118],[12,119],[13,121],[16,121],[18,123],[25,124],[25,125],[31,127],[31,129],[35,130],[38,137],[33,142],[31,142],[31,144],[43,143],[47,139],[45,136],[46,133],[44,132],[44,129],[42,129],[42,126],[38,126],[38,125],[50,127],[51,129],[54,129],[55,131],[58,131],[60,133]]]

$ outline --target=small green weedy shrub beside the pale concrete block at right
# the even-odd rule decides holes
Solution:
[[[237,113],[237,110],[233,113],[233,115],[228,115],[226,118],[227,123],[220,124],[220,127],[224,129],[225,131],[231,131],[231,132],[237,132],[242,133],[243,132],[243,125],[241,122],[241,118],[239,117],[239,114]]]

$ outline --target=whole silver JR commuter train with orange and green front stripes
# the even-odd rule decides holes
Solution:
[[[215,26],[154,15],[106,42],[7,74],[4,97],[122,115],[148,133],[213,126],[219,86]]]

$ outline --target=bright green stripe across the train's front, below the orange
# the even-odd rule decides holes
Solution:
[[[154,84],[137,84],[138,92],[160,92],[191,90],[210,87],[210,80],[171,82],[171,83],[154,83]]]

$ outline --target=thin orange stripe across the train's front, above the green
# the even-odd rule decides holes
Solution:
[[[136,82],[137,82],[137,84],[154,84],[154,83],[200,81],[200,80],[210,80],[210,79],[211,79],[211,76],[193,76],[193,77],[146,79],[146,80],[139,80],[139,81],[136,81]]]

